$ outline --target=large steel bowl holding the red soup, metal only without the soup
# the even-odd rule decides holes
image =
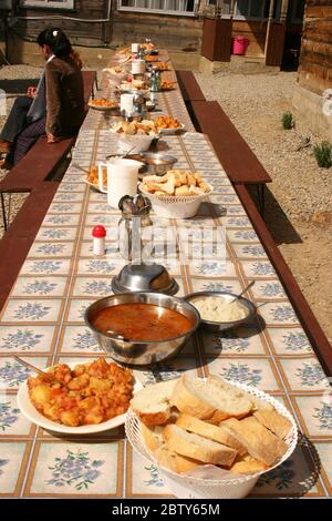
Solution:
[[[194,326],[184,335],[168,338],[163,341],[133,341],[129,339],[118,339],[116,335],[106,335],[93,326],[93,317],[101,309],[129,303],[154,304],[156,306],[175,309],[190,318],[194,321]],[[200,320],[199,313],[189,303],[159,293],[122,293],[120,295],[112,295],[110,297],[102,298],[89,306],[85,311],[84,319],[86,325],[93,330],[98,345],[105,353],[116,361],[135,366],[156,364],[165,358],[175,356],[197,329]]]

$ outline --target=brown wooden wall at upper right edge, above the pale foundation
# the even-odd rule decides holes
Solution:
[[[307,0],[299,84],[317,94],[332,88],[332,0]]]

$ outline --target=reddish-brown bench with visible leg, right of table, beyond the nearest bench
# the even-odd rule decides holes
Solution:
[[[234,185],[256,185],[260,213],[271,177],[217,101],[193,101],[194,124],[207,134]]]

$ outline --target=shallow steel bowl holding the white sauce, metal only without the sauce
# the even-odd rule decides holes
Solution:
[[[197,293],[190,293],[189,295],[186,295],[184,298],[187,303],[190,303],[194,307],[195,304],[193,302],[197,297],[224,297],[229,300],[232,300],[234,298],[237,298],[237,295],[229,293],[229,292],[197,292]],[[248,309],[248,315],[245,318],[241,318],[240,320],[234,320],[234,321],[210,321],[210,320],[204,320],[200,317],[200,325],[205,329],[208,329],[209,331],[218,333],[218,331],[225,331],[226,329],[231,329],[232,327],[241,326],[246,324],[247,321],[251,320],[257,313],[257,307],[255,304],[252,304],[251,300],[248,300],[248,298],[239,297],[238,302],[243,304],[243,306],[247,307]]]

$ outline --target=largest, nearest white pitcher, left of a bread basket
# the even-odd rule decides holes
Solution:
[[[124,195],[136,195],[138,170],[143,164],[139,161],[120,157],[98,163],[98,187],[101,192],[107,194],[107,203],[112,208],[118,208],[118,201]],[[107,187],[104,186],[103,167],[107,170]]]

